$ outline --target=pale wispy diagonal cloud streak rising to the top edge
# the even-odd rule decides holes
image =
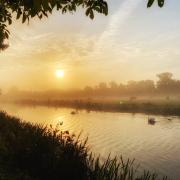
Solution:
[[[111,16],[107,28],[100,36],[94,47],[94,56],[102,56],[102,52],[110,51],[114,56],[118,55],[118,46],[116,44],[116,38],[119,36],[123,24],[126,22],[129,16],[137,8],[142,0],[125,0],[120,5],[118,10]],[[114,47],[116,46],[116,47]]]

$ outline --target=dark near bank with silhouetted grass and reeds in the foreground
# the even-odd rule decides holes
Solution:
[[[20,121],[0,112],[1,180],[157,180],[134,161],[104,163],[69,132]]]

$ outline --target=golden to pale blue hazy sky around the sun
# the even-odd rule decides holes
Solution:
[[[146,0],[107,0],[109,15],[90,20],[84,9],[30,24],[15,21],[0,53],[0,86],[25,90],[83,88],[99,82],[180,79],[180,1],[146,8]],[[63,78],[55,72],[64,71]]]

